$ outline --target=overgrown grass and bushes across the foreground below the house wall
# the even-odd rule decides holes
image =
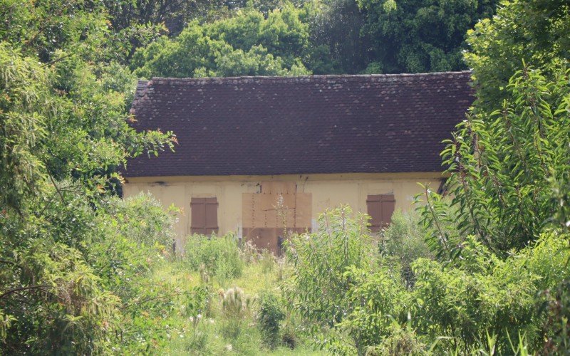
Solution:
[[[159,355],[558,355],[568,345],[569,236],[497,256],[467,239],[441,261],[420,216],[380,236],[348,206],[276,258],[237,237],[188,236],[140,274],[120,349]],[[125,330],[126,331],[126,330]]]

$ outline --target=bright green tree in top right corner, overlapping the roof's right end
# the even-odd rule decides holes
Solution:
[[[473,69],[476,110],[490,112],[509,97],[509,78],[525,66],[554,70],[570,58],[570,11],[564,0],[514,0],[467,34],[465,61]],[[555,77],[554,73],[544,75]]]

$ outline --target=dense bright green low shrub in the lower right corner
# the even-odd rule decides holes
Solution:
[[[537,352],[549,333],[543,328],[546,314],[537,308],[537,293],[570,277],[564,267],[570,258],[568,238],[544,234],[536,246],[504,260],[481,253],[484,248],[471,238],[464,248],[465,256],[473,257],[460,266],[445,268],[419,259],[413,263],[418,280],[412,308],[418,328],[434,338],[452,337],[453,347],[464,352],[474,350],[487,333],[496,339],[497,352],[512,352],[509,339],[517,335],[524,335],[529,350]]]

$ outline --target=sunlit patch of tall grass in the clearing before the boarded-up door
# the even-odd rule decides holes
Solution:
[[[182,292],[199,287],[207,298],[200,299],[202,305],[173,300],[164,315],[168,340],[157,353],[321,355],[299,335],[297,323],[281,315],[284,269],[284,261],[251,244],[240,246],[232,234],[188,236],[185,256],[163,261],[149,278]]]

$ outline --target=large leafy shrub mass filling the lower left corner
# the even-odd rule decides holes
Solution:
[[[164,300],[172,292],[145,284],[150,268],[165,256],[162,243],[172,234],[170,216],[145,195],[128,201],[105,197],[96,209],[81,192],[62,196],[38,201],[43,215],[31,216],[24,234],[17,232],[27,239],[14,248],[8,266],[19,273],[0,271],[2,289],[15,290],[0,298],[2,313],[9,315],[4,320],[10,322],[0,322],[8,328],[0,330],[6,335],[0,352],[89,354],[140,345],[141,340],[135,342],[138,332],[150,335],[159,328],[134,325],[130,313],[140,311],[141,300]],[[138,211],[136,217],[133,211]],[[21,286],[33,288],[20,293]],[[150,303],[140,308],[150,309]],[[126,328],[138,332],[123,333]]]

